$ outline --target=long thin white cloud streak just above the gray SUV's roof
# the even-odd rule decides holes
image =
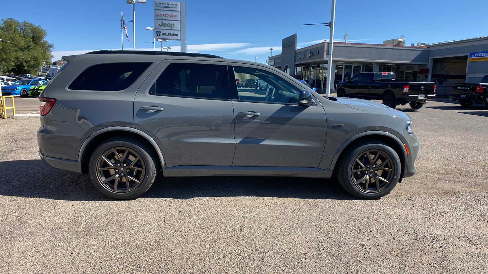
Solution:
[[[186,51],[192,53],[198,53],[203,51],[227,51],[236,48],[242,48],[245,46],[249,46],[250,43],[221,43],[221,44],[200,44],[200,45],[187,45]],[[163,43],[164,46],[164,43]],[[161,50],[161,44],[158,46],[158,42],[156,43],[156,50]],[[117,49],[110,49],[110,50],[121,50],[121,48]],[[132,48],[125,48],[125,50],[132,50]],[[147,50],[151,51],[153,48],[136,48],[136,50]],[[269,50],[269,48],[268,48]],[[97,50],[72,50],[72,51],[53,51],[53,61],[61,59],[63,56],[68,55],[78,55],[78,54],[85,54],[87,52],[97,51]],[[172,52],[179,52],[180,46],[171,46],[169,51]]]

